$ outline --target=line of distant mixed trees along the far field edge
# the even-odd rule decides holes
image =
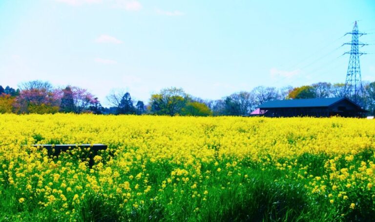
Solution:
[[[0,86],[0,113],[94,113],[94,114],[155,114],[155,115],[249,115],[257,106],[279,99],[343,97],[342,83],[320,82],[310,86],[255,87],[235,92],[219,100],[204,100],[187,94],[183,89],[167,88],[152,94],[149,101],[134,101],[129,92],[111,92],[104,108],[88,90],[66,86],[58,89],[39,80],[22,83],[19,89]],[[360,105],[375,114],[375,82],[364,83]]]

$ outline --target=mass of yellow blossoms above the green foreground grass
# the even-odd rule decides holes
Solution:
[[[0,129],[6,129],[1,131],[0,183],[14,187],[15,197],[27,197],[20,198],[20,204],[48,206],[51,213],[64,214],[91,193],[121,200],[124,209],[131,210],[133,204],[158,203],[167,192],[205,201],[216,180],[219,190],[243,192],[251,183],[249,166],[265,174],[275,168],[283,178],[303,183],[309,195],[326,196],[333,204],[354,208],[351,194],[344,191],[363,187],[366,195],[374,196],[375,156],[360,154],[374,147],[375,121],[364,119],[0,114]],[[93,154],[95,165],[88,168],[90,160],[84,156],[92,148],[73,147],[70,154],[51,158],[46,149],[34,152],[36,148],[22,146],[33,144],[37,134],[42,142],[104,143],[108,149]],[[306,153],[331,156],[321,174],[299,161]],[[168,175],[157,172],[163,168]],[[217,178],[221,171],[223,177]],[[158,175],[164,178],[155,178]],[[0,196],[6,195],[0,188]],[[71,220],[77,215],[73,209]]]

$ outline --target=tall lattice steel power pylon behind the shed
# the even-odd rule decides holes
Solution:
[[[365,35],[366,33],[358,32],[357,21],[355,21],[353,31],[348,32],[345,35],[347,34],[352,35],[352,42],[344,43],[351,45],[351,50],[344,53],[350,54],[348,72],[346,74],[345,80],[344,95],[352,99],[354,102],[362,104],[363,87],[361,79],[361,68],[359,66],[359,56],[366,53],[359,52],[359,46],[362,47],[367,44],[360,43],[358,41],[358,38],[362,35]]]

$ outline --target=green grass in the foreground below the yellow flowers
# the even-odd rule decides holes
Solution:
[[[79,157],[65,155],[62,161],[75,160]],[[75,158],[75,159],[74,159]],[[106,161],[111,156],[106,157]],[[291,158],[297,160],[295,167],[289,171],[280,170],[274,164],[242,160],[236,166],[227,166],[235,159],[224,158],[215,166],[213,163],[200,163],[201,175],[187,175],[188,182],[183,182],[183,176],[171,178],[171,172],[177,168],[184,169],[184,164],[144,161],[141,165],[132,167],[130,172],[125,172],[121,167],[112,164],[111,167],[120,172],[121,181],[127,181],[129,175],[140,172],[147,173],[148,184],[152,186],[148,193],[145,187],[140,189],[139,196],[133,197],[132,203],[137,202],[138,207],[124,204],[124,199],[109,197],[114,194],[116,187],[103,183],[103,193],[96,194],[90,190],[84,192],[85,197],[79,204],[70,205],[67,211],[74,216],[66,215],[66,210],[59,212],[58,204],[42,207],[38,202],[43,200],[42,195],[36,195],[26,204],[20,204],[18,199],[22,190],[9,186],[7,182],[0,185],[0,221],[371,221],[375,216],[374,197],[365,188],[348,191],[348,195],[357,198],[358,208],[350,209],[346,202],[329,203],[324,195],[311,195],[311,190],[305,185],[309,184],[309,177],[297,179],[295,176],[302,166],[309,166],[308,175],[313,177],[329,177],[325,164],[330,156],[304,154]],[[341,157],[337,161],[344,168],[345,161]],[[356,160],[373,160],[374,152],[367,150],[355,155]],[[114,161],[116,156],[114,157]],[[2,163],[4,164],[4,163]],[[77,164],[78,165],[78,164]],[[73,168],[77,165],[71,166]],[[105,165],[104,165],[105,167]],[[193,166],[188,166],[187,170]],[[223,169],[218,172],[217,169]],[[146,169],[143,171],[142,169]],[[87,169],[89,170],[89,169]],[[223,173],[225,171],[225,174]],[[58,170],[57,170],[58,172]],[[228,175],[230,172],[230,175]],[[247,175],[247,177],[245,177]],[[2,174],[7,181],[7,174]],[[160,191],[164,180],[171,178],[173,181],[166,183]],[[179,181],[177,181],[179,178]],[[48,178],[46,178],[48,179]],[[35,181],[37,183],[38,181]],[[196,188],[192,188],[194,183]],[[83,183],[84,179],[83,179]],[[140,181],[130,181],[134,187]],[[208,194],[204,194],[208,191]],[[196,192],[196,193],[195,193]],[[200,196],[200,197],[199,197]],[[153,199],[151,201],[151,199]],[[141,201],[144,201],[142,204]],[[346,205],[345,205],[345,204]],[[123,207],[120,207],[123,204]],[[74,209],[74,212],[73,212]],[[55,210],[55,211],[54,211]],[[56,212],[56,210],[58,210]]]

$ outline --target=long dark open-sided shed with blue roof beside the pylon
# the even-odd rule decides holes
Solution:
[[[346,97],[274,100],[257,108],[258,115],[268,117],[361,117],[368,112]]]

